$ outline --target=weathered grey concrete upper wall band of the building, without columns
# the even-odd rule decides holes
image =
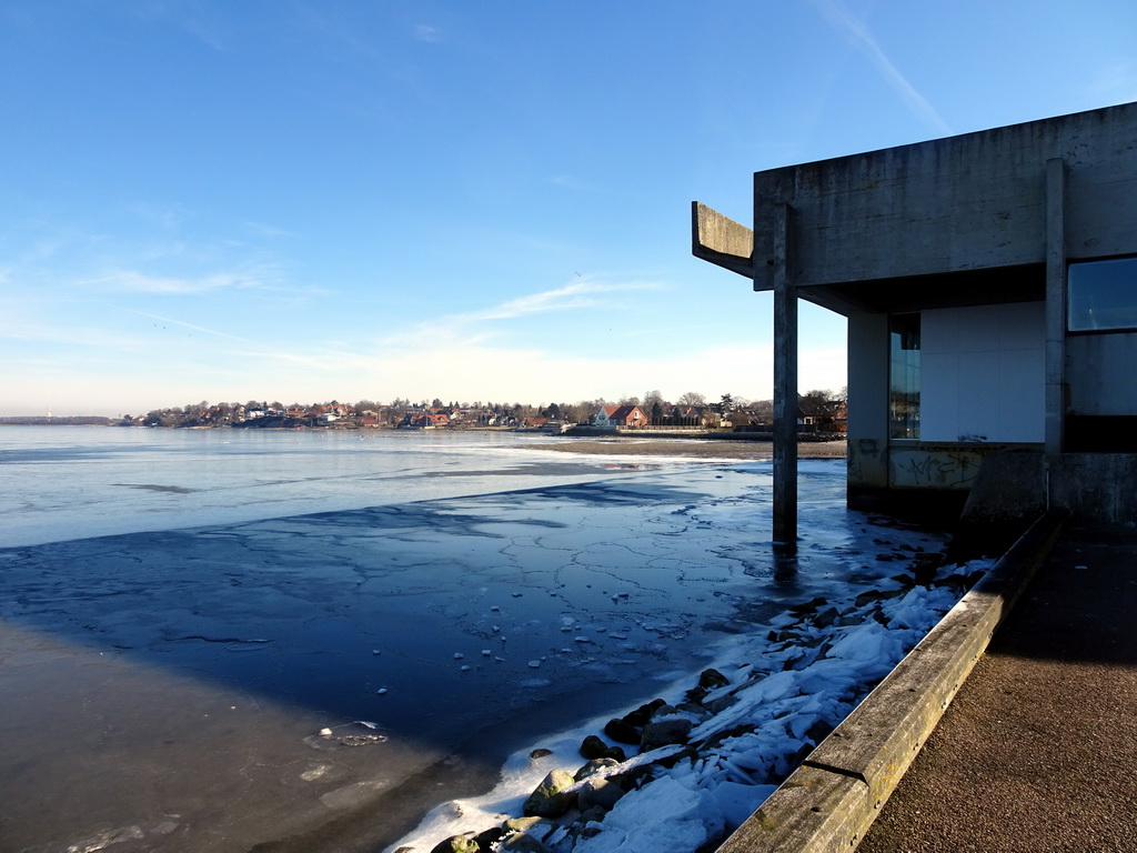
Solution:
[[[1069,258],[1137,252],[1137,103],[758,172],[755,288],[773,287],[775,209],[795,213],[799,287],[1046,260],[1046,162],[1065,164]]]

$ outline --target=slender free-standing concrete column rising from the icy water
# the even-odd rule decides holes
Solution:
[[[775,208],[774,273],[774,523],[773,540],[797,547],[797,289],[794,287],[794,208]]]

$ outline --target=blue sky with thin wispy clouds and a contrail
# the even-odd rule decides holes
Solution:
[[[0,414],[767,398],[691,200],[1137,100],[1135,45],[1131,0],[0,0]],[[803,306],[803,390],[844,346]]]

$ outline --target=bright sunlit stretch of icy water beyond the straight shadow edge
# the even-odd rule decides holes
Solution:
[[[604,458],[531,449],[555,440],[565,439],[0,426],[0,547],[481,495],[620,471]]]

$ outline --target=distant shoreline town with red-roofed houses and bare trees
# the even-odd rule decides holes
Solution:
[[[822,432],[845,432],[845,389],[815,390],[798,397],[798,423]],[[526,405],[521,403],[356,403],[284,405],[280,401],[207,403],[157,408],[122,417],[0,416],[0,424],[73,424],[193,429],[514,429],[565,432],[573,429],[605,431],[767,431],[773,421],[771,400],[747,400],[722,395],[708,403],[689,391],[671,403],[658,391],[615,403],[582,400]]]

